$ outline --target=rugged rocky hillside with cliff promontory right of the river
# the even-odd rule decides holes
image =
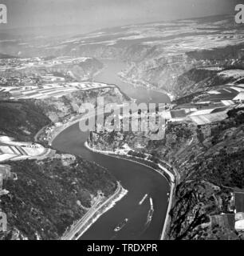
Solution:
[[[237,239],[234,226],[211,226],[211,216],[230,214],[235,189],[244,189],[244,109],[230,110],[228,118],[205,126],[169,122],[163,140],[150,141],[140,133],[91,133],[89,145],[116,150],[126,143],[137,157],[152,154],[179,171],[171,209],[170,239]],[[231,209],[231,210],[230,210]]]

